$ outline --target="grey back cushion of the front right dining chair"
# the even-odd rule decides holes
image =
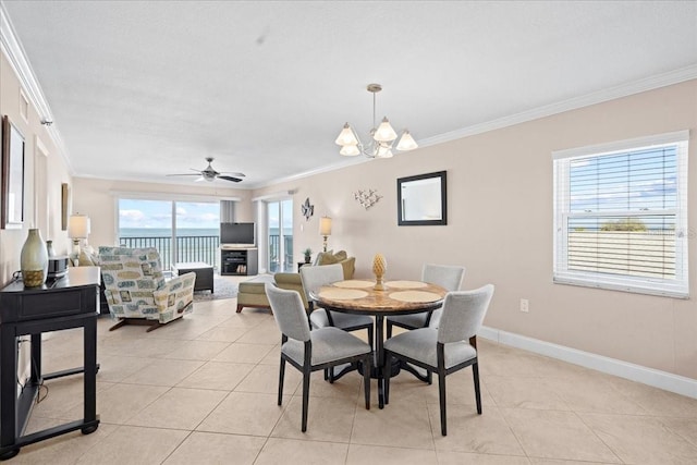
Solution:
[[[474,291],[454,291],[445,295],[443,315],[438,327],[438,342],[467,341],[477,334],[489,308],[493,285]]]

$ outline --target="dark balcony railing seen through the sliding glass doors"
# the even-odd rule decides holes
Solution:
[[[284,250],[283,267],[281,268],[281,238],[278,234],[269,235],[269,271],[293,271],[293,236],[283,236]],[[172,236],[135,236],[120,237],[123,247],[155,247],[160,253],[162,268],[172,267]],[[203,261],[220,269],[220,237],[217,235],[194,235],[176,237],[176,256],[174,262]]]

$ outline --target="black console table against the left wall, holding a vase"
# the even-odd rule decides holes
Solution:
[[[68,274],[41,287],[14,281],[0,290],[0,461],[20,448],[82,430],[97,430],[97,317],[99,267],[70,268]],[[41,374],[41,333],[83,328],[84,366]],[[30,335],[32,371],[17,396],[17,338]],[[84,372],[84,418],[23,436],[32,405],[44,380]]]

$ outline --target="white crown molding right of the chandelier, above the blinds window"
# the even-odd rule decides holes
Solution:
[[[568,100],[563,100],[557,103],[547,105],[545,107],[538,107],[531,110],[511,114],[509,117],[499,118],[497,120],[487,121],[481,124],[475,124],[473,126],[467,126],[462,130],[451,131],[449,133],[440,134],[433,137],[428,137],[426,139],[419,139],[418,144],[419,144],[419,147],[428,147],[437,144],[443,144],[443,143],[455,140],[458,138],[468,137],[468,136],[486,133],[493,130],[500,130],[502,127],[508,127],[515,124],[538,120],[540,118],[563,113],[570,110],[576,110],[583,107],[589,107],[596,103],[602,103],[603,101],[615,100],[617,98],[640,94],[647,90],[653,90],[660,87],[667,87],[673,84],[678,84],[678,83],[683,83],[685,81],[692,81],[695,78],[697,78],[697,64],[693,64],[686,68],[681,68],[674,71],[669,71],[662,74],[657,74],[655,76],[646,77],[639,81],[634,81],[627,84],[609,87],[607,89],[602,89],[591,94],[586,94],[580,97],[574,97]]]

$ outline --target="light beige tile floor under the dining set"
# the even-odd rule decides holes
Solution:
[[[266,310],[200,302],[154,332],[99,320],[99,429],[22,449],[12,463],[53,464],[695,464],[697,400],[480,339],[484,415],[472,371],[448,377],[448,437],[438,382],[403,372],[390,404],[363,405],[362,378],[310,384],[286,369],[277,405],[280,334]],[[45,371],[82,364],[82,330],[50,334]],[[81,418],[82,378],[46,382],[28,430]]]

